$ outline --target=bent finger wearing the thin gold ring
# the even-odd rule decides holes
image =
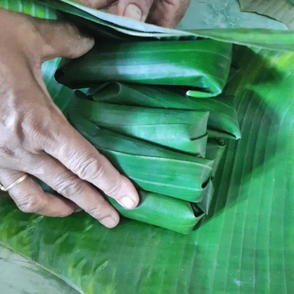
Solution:
[[[18,180],[24,172],[0,170],[0,182],[4,187]],[[30,176],[8,191],[16,205],[26,213],[38,213],[49,217],[65,217],[72,214],[76,205],[67,199],[45,193]]]

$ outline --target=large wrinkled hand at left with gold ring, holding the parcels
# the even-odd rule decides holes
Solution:
[[[117,211],[92,184],[125,208],[139,201],[132,183],[87,142],[53,103],[41,64],[76,58],[94,45],[72,25],[0,9],[0,182],[24,212],[67,216],[78,207],[106,227]],[[64,197],[45,193],[33,175]]]

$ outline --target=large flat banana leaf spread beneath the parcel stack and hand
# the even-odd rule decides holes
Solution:
[[[230,41],[238,31],[214,34]],[[241,71],[225,94],[235,96],[242,139],[228,142],[196,231],[130,220],[108,230],[84,213],[50,219],[1,198],[1,244],[81,293],[293,293],[294,53],[274,49],[294,39],[275,34],[236,37],[272,49],[233,51]]]

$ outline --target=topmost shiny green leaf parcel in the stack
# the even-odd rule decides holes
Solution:
[[[105,81],[189,87],[193,97],[221,94],[232,45],[214,40],[99,43],[84,56],[61,63],[55,78],[70,88]]]

